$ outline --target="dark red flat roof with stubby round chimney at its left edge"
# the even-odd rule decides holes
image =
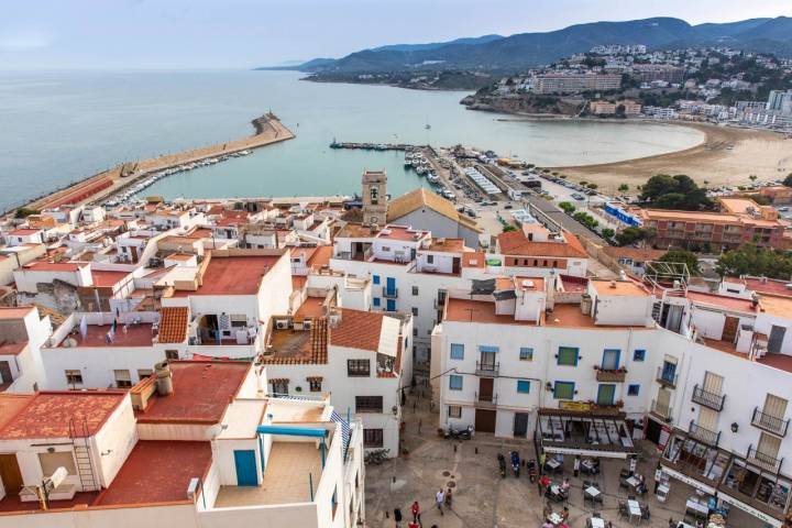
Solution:
[[[173,394],[155,394],[141,424],[218,424],[237,395],[252,363],[241,361],[172,361]]]

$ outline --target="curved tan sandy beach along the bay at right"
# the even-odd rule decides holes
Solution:
[[[571,180],[596,183],[606,193],[627,184],[630,191],[656,174],[686,174],[700,185],[750,184],[779,179],[792,173],[792,140],[761,130],[735,129],[714,124],[673,122],[669,127],[690,127],[705,134],[704,142],[684,151],[598,165],[553,167]]]

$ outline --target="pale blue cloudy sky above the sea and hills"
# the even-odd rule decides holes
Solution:
[[[0,69],[250,68],[600,20],[792,15],[790,0],[3,0]]]

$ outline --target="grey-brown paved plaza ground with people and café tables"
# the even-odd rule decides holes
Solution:
[[[537,484],[530,483],[527,471],[516,479],[510,471],[501,477],[497,453],[508,459],[510,450],[517,450],[522,459],[536,459],[532,442],[495,438],[476,433],[473,440],[450,441],[438,435],[438,416],[429,409],[429,400],[408,397],[404,407],[404,447],[408,454],[383,463],[366,466],[366,525],[367,527],[393,528],[394,508],[400,508],[405,521],[411,519],[409,507],[418,501],[421,507],[422,526],[437,525],[439,528],[457,527],[541,527],[547,499],[540,497]],[[421,425],[418,432],[418,425]],[[666,503],[660,503],[652,493],[653,474],[658,451],[653,444],[639,441],[640,455],[637,473],[646,475],[649,492],[638,497],[649,507],[649,519],[630,524],[618,515],[619,502],[626,502],[628,492],[619,487],[619,471],[626,468],[624,460],[602,459],[600,475],[572,475],[572,458],[568,457],[560,473],[553,474],[553,482],[560,484],[564,476],[570,479],[568,501],[552,503],[553,512],[569,508],[569,526],[586,527],[595,512],[614,527],[645,526],[668,528],[669,519],[684,517],[685,503],[696,497],[695,491],[683,483],[671,481]],[[603,503],[593,506],[583,504],[584,481],[596,482],[602,491]],[[435,494],[440,488],[452,490],[452,506],[443,515],[435,507]],[[689,522],[695,526],[692,518]],[[760,521],[737,508],[732,508],[729,527],[759,528]]]

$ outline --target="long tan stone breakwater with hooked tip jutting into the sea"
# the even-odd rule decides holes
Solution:
[[[210,157],[223,156],[235,152],[258,148],[262,146],[292,140],[295,134],[288,130],[273,113],[266,113],[251,121],[256,133],[238,140],[201,146],[198,148],[164,154],[136,162],[128,162],[103,170],[81,182],[75,183],[31,201],[25,207],[42,210],[65,204],[84,204],[108,197],[140,178],[179,165],[200,162]]]

